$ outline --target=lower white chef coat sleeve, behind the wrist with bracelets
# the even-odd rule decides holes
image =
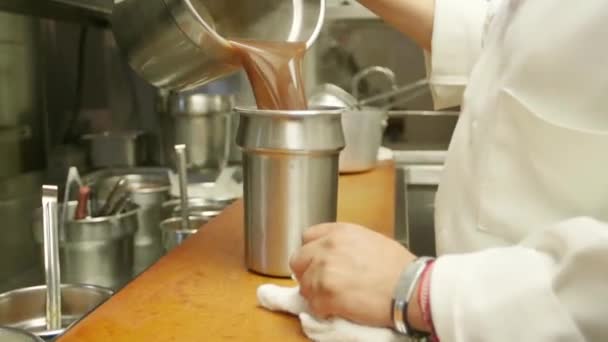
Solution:
[[[442,341],[605,341],[608,224],[575,218],[521,244],[437,259]]]

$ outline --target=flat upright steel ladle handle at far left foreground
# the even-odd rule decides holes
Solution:
[[[44,233],[44,271],[46,275],[46,328],[61,328],[61,273],[59,269],[59,231],[56,186],[42,187],[42,225]]]

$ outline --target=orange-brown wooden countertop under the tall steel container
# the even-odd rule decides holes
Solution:
[[[395,167],[340,177],[339,221],[394,235]],[[237,201],[68,331],[70,341],[306,341],[295,317],[257,306],[264,283],[288,279],[244,266],[243,205]]]

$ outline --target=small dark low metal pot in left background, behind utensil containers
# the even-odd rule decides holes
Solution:
[[[135,167],[146,160],[142,132],[102,132],[84,135],[93,168]]]

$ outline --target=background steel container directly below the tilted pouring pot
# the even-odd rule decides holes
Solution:
[[[164,154],[177,168],[173,147],[188,147],[189,168],[217,177],[230,155],[230,119],[234,97],[229,95],[173,94],[162,116]]]

